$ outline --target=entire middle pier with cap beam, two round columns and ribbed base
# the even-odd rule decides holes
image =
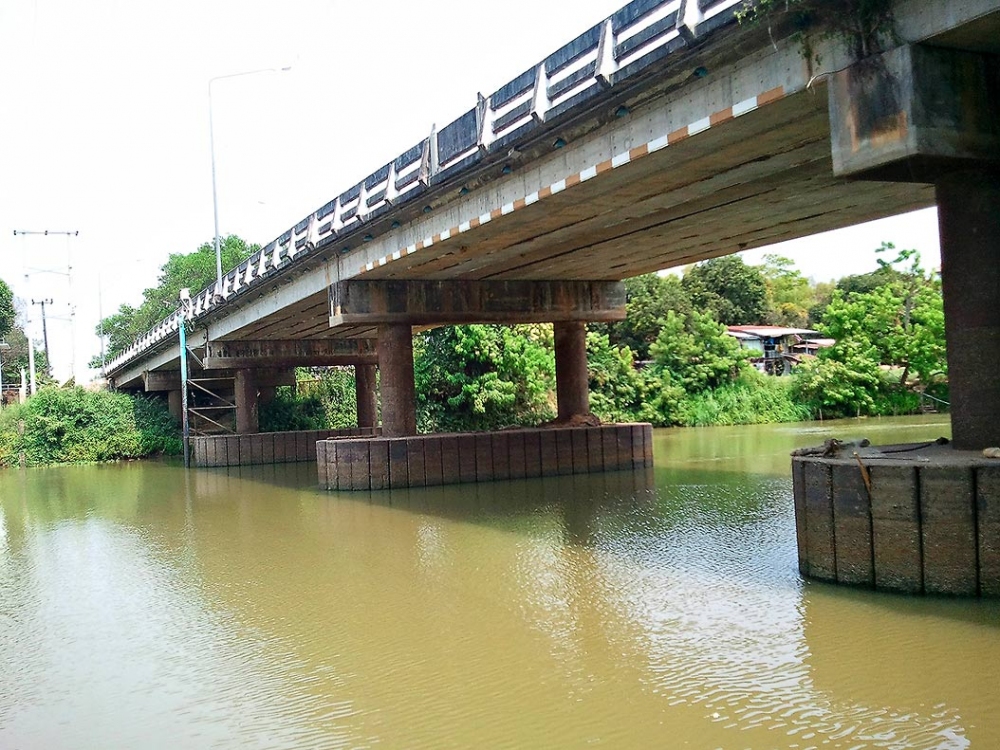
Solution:
[[[366,280],[341,282],[330,299],[331,325],[378,329],[382,437],[321,441],[321,487],[379,490],[652,466],[650,425],[577,426],[593,421],[585,322],[624,317],[620,283]],[[555,426],[417,435],[412,327],[476,322],[553,323]]]

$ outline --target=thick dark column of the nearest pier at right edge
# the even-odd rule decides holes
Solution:
[[[952,441],[1000,445],[1000,171],[936,183]]]

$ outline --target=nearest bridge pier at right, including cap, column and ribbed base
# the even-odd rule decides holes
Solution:
[[[835,171],[933,183],[952,443],[793,459],[799,565],[839,583],[1000,596],[1000,62],[901,47],[830,86]],[[859,466],[860,464],[860,466]]]

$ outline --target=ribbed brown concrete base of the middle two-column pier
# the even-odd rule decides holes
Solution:
[[[382,490],[494,482],[653,465],[648,424],[321,440],[320,486]]]

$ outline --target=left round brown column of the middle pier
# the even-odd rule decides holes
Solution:
[[[378,327],[382,436],[417,434],[417,392],[413,382],[413,331],[409,323]]]

